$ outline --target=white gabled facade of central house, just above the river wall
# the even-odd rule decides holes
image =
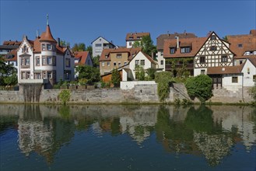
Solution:
[[[129,63],[129,68],[132,71],[132,75],[134,79],[136,79],[135,77],[136,65],[142,66],[144,70],[148,68],[156,68],[156,62],[150,61],[149,58],[147,58],[146,55],[142,53],[142,51],[139,51],[139,53],[136,54],[134,58],[132,58],[132,61],[130,61]]]

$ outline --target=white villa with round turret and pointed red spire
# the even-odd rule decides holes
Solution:
[[[61,47],[51,35],[47,22],[46,31],[36,40],[23,37],[17,50],[18,83],[44,83],[51,88],[60,79],[74,80],[74,57],[69,47]]]

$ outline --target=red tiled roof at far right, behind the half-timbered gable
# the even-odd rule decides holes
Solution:
[[[247,58],[246,51],[256,51],[256,30],[251,30],[250,34],[226,36],[230,43],[230,50],[236,54],[235,58]],[[241,44],[242,47],[238,47]],[[251,55],[250,55],[251,56]]]

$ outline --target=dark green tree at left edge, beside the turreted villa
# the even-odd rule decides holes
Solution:
[[[0,86],[14,86],[17,82],[16,68],[6,65],[4,57],[0,55]]]

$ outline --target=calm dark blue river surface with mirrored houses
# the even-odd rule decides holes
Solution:
[[[0,104],[4,170],[255,170],[250,106]]]

